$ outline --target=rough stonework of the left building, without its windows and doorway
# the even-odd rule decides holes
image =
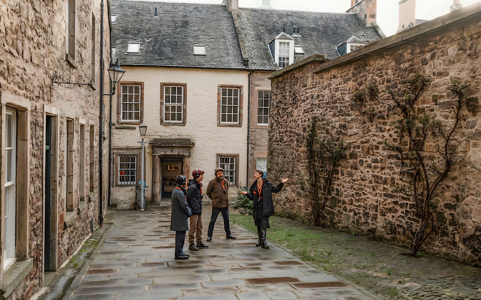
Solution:
[[[28,195],[27,207],[17,207],[17,214],[28,218],[27,239],[17,243],[28,243],[27,257],[33,259],[33,269],[13,290],[11,295],[4,295],[7,299],[29,299],[42,286],[43,282],[43,235],[44,235],[44,120],[45,114],[53,115],[57,121],[58,133],[52,137],[58,153],[58,168],[52,174],[58,174],[56,199],[56,214],[58,215],[58,240],[56,266],[60,266],[74,253],[81,241],[90,231],[90,218],[98,224],[99,216],[99,169],[98,169],[98,143],[99,143],[99,88],[100,88],[100,20],[101,0],[76,1],[76,55],[75,68],[65,60],[67,53],[67,3],[68,1],[20,1],[7,0],[0,5],[0,101],[2,112],[1,141],[4,141],[3,116],[5,107],[13,107],[28,112],[26,119],[29,128],[28,146],[30,157],[28,174],[17,174],[17,185],[26,189]],[[96,49],[95,49],[95,76],[91,77],[91,23],[92,14],[96,22]],[[104,82],[108,82],[108,62],[110,53],[108,1],[105,1],[105,28],[104,36]],[[89,83],[93,81],[95,88],[88,85],[57,85],[52,84],[53,75],[60,75],[71,82]],[[108,84],[104,84],[104,93],[108,93]],[[72,87],[72,88],[67,88]],[[105,97],[104,103],[108,103]],[[86,147],[89,147],[89,125],[94,125],[95,143],[94,165],[95,192],[91,194],[92,201],[81,211],[78,209],[78,194],[74,199],[75,221],[64,229],[65,219],[65,142],[66,120],[73,120],[74,145],[73,145],[73,190],[79,187],[79,129],[80,122],[85,123]],[[108,121],[108,119],[106,120]],[[104,123],[108,135],[108,125]],[[104,142],[104,153],[108,150],[108,140]],[[107,149],[107,150],[105,150]],[[5,161],[2,150],[1,169],[4,170]],[[107,161],[104,155],[104,162]],[[89,149],[86,149],[86,158],[89,159]],[[19,158],[18,163],[23,163]],[[107,186],[107,167],[104,167],[104,187]],[[2,172],[3,173],[3,172]],[[88,176],[86,176],[88,180]],[[2,181],[3,182],[3,181]],[[26,184],[29,182],[29,184]],[[86,182],[88,188],[89,184]],[[52,187],[54,188],[54,187]],[[4,193],[1,190],[0,205],[4,205]],[[104,197],[104,199],[106,199]],[[105,206],[104,206],[105,207]],[[3,220],[3,217],[1,218]],[[1,228],[0,251],[3,253],[3,228]],[[25,259],[18,257],[18,259]],[[0,284],[5,279],[3,264],[0,268]],[[12,270],[15,264],[7,269]],[[8,274],[8,273],[7,273]]]

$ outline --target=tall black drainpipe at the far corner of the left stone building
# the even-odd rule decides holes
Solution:
[[[102,126],[103,126],[103,0],[100,17],[100,114],[99,114],[99,226],[103,227],[103,166],[102,166]]]

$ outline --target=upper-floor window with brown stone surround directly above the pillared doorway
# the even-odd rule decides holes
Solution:
[[[160,89],[160,123],[185,126],[187,119],[187,84],[161,83]]]

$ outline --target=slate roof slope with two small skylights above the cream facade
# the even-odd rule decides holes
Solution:
[[[221,4],[112,0],[112,48],[122,66],[244,69],[232,16]],[[157,17],[154,17],[157,7]],[[139,42],[138,54],[127,53]],[[194,55],[205,45],[205,56]]]

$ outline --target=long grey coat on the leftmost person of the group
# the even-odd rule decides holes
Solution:
[[[189,217],[192,215],[187,205],[187,191],[177,184],[172,192],[172,214],[170,215],[170,230],[189,230]]]

